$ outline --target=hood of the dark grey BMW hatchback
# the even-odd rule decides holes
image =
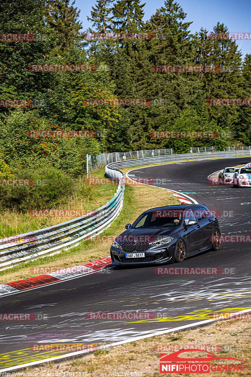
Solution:
[[[174,235],[180,231],[181,225],[166,227],[166,228],[144,228],[133,229],[129,228],[123,231],[117,238],[117,242],[154,242],[158,239]]]

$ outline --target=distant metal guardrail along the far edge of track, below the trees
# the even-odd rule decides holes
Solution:
[[[132,160],[112,162],[107,165],[110,169],[123,169],[128,166],[137,165],[151,165],[161,164],[163,162],[175,162],[175,161],[189,161],[196,159],[210,159],[210,158],[228,158],[228,157],[249,157],[251,156],[251,150],[232,150],[224,152],[205,152],[205,153],[182,153],[178,155],[156,156],[148,158],[137,158]]]

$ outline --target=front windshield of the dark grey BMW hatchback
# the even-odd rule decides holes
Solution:
[[[182,211],[155,210],[142,215],[132,224],[132,228],[160,228],[180,225]],[[175,221],[176,220],[176,221]]]

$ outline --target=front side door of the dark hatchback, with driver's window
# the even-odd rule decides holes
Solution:
[[[202,229],[201,225],[188,225],[189,220],[196,220],[192,209],[184,213],[184,231],[186,233],[186,242],[188,246],[187,254],[194,254],[202,248]]]

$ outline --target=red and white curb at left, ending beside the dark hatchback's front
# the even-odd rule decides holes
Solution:
[[[93,274],[109,265],[111,265],[111,258],[105,257],[98,259],[97,261],[88,262],[82,265],[62,268],[61,270],[65,270],[65,272],[52,272],[49,274],[30,277],[29,279],[0,284],[0,296],[17,293],[31,288],[37,288],[41,285],[57,283],[65,279],[72,279],[88,274]]]

